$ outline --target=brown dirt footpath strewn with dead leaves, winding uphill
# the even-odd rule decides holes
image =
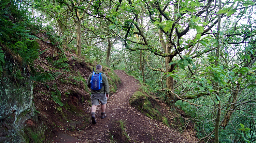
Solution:
[[[122,70],[115,70],[120,77],[121,84],[118,91],[110,96],[106,105],[107,117],[100,118],[101,108],[96,110],[96,124],[89,120],[89,125],[81,131],[69,132],[75,135],[76,139],[69,143],[192,143],[186,136],[179,136],[180,133],[168,128],[161,122],[146,117],[129,104],[129,99],[138,90],[139,81],[132,76],[125,74]],[[90,109],[87,109],[90,110]],[[90,117],[89,117],[90,118]],[[124,122],[125,131],[129,139],[123,134],[119,121]],[[111,138],[113,137],[113,139]],[[69,136],[70,137],[70,136]],[[176,137],[176,138],[175,138]],[[67,137],[63,137],[60,143],[68,143]],[[66,138],[66,142],[63,141]]]

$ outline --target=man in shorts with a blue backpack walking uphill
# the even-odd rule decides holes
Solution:
[[[97,82],[95,77],[99,77],[101,75],[102,81],[102,87],[99,87],[94,90],[94,85],[100,83]],[[95,81],[91,81],[92,76],[94,76]],[[95,83],[94,83],[95,82]],[[93,85],[93,86],[92,86]],[[87,86],[91,89],[91,121],[93,124],[96,124],[95,120],[95,112],[96,108],[99,105],[99,101],[101,102],[101,119],[106,117],[105,109],[106,109],[106,103],[107,99],[109,98],[109,82],[106,75],[102,72],[102,66],[97,65],[96,71],[91,73],[87,80]]]

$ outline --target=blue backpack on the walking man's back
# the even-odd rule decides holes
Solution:
[[[102,77],[101,77],[102,73],[95,73],[93,71],[93,76],[91,76],[91,89],[93,90],[100,90],[103,86],[103,82],[102,82]]]

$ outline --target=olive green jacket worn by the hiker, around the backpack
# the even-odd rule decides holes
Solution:
[[[101,73],[102,71],[96,70],[95,72]],[[91,73],[89,75],[88,80],[87,80],[87,86],[90,89],[91,89],[91,84],[90,84],[91,76],[93,76],[93,73]],[[106,94],[109,94],[109,81],[108,81],[108,78],[106,77],[105,73],[101,74],[101,77],[102,77],[102,82],[103,82],[102,88],[100,90],[93,90],[93,89],[91,89],[91,93],[92,94],[93,93],[106,93]]]

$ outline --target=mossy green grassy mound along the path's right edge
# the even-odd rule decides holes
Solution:
[[[168,119],[159,111],[160,106],[156,102],[155,98],[148,92],[148,90],[151,90],[150,86],[141,84],[139,90],[136,91],[129,99],[130,105],[140,110],[147,117],[161,121],[163,124],[170,127]]]

